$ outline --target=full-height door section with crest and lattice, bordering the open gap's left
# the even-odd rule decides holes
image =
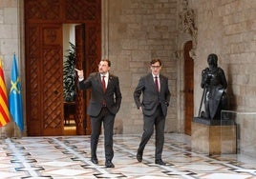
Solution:
[[[42,26],[43,135],[63,134],[62,25]]]

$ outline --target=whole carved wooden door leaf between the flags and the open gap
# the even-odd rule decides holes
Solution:
[[[27,116],[29,135],[63,134],[62,25],[28,26]],[[29,91],[28,91],[29,90]],[[28,103],[29,102],[29,103]]]

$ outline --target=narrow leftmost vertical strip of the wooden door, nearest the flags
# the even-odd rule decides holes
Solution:
[[[26,104],[28,135],[41,134],[41,57],[40,57],[40,27],[28,25],[26,27]],[[29,110],[29,111],[28,111]]]

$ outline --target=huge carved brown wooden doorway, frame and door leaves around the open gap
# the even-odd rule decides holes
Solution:
[[[101,58],[101,0],[24,0],[24,6],[27,134],[64,135],[63,25],[86,25],[75,65],[88,75]],[[85,92],[77,92],[76,134],[90,134],[87,104]]]

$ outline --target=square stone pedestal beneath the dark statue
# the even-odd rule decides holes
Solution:
[[[205,154],[236,153],[236,125],[233,121],[195,117],[192,122],[192,150]]]

